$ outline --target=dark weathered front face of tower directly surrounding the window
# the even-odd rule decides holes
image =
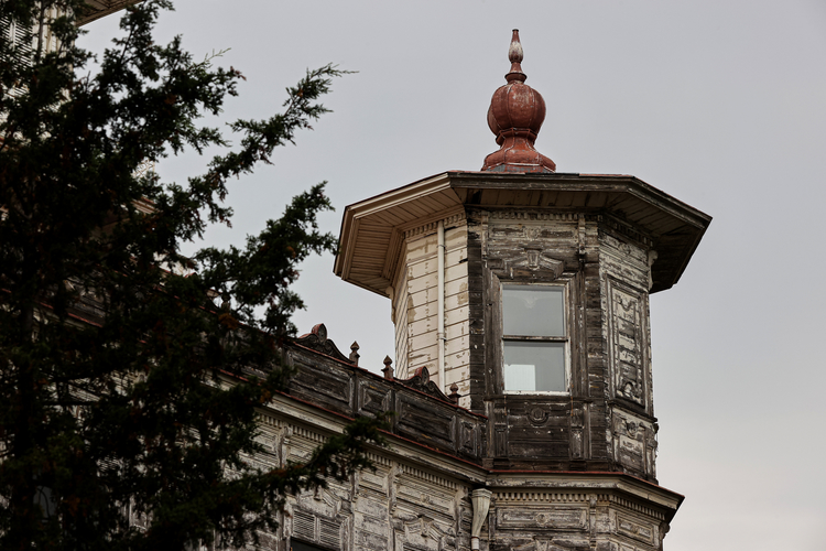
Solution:
[[[486,412],[491,417],[492,466],[526,469],[585,468],[591,460],[587,387],[585,259],[596,251],[596,228],[576,214],[492,210],[481,222]],[[529,251],[537,251],[533,257]],[[567,379],[569,393],[509,395],[502,379],[503,282],[562,284],[566,298]],[[597,288],[598,292],[598,288]],[[604,446],[605,447],[605,446]],[[582,466],[579,466],[582,465]]]

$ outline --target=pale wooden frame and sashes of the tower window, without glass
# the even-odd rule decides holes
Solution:
[[[498,279],[498,278],[497,278]],[[506,335],[504,334],[504,290],[506,287],[554,287],[562,290],[562,325],[565,329],[565,336],[532,336],[532,335]],[[572,326],[570,326],[570,305],[569,289],[566,282],[544,282],[544,281],[499,281],[499,365],[500,382],[503,395],[509,396],[570,396],[572,389]],[[565,390],[509,390],[504,380],[504,344],[506,342],[514,343],[562,343]]]

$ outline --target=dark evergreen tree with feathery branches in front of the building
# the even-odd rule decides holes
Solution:
[[[242,545],[287,493],[369,465],[380,420],[357,420],[302,465],[261,472],[256,409],[283,388],[296,264],[333,250],[324,184],[240,248],[181,246],[228,223],[227,181],[326,109],[340,73],[308,72],[284,110],[198,123],[242,75],[152,36],[167,0],[127,9],[88,75],[81,0],[2,0],[0,19],[0,549]],[[221,147],[204,175],[142,163]],[[130,526],[124,510],[143,515]]]

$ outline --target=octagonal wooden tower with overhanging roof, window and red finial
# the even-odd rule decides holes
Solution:
[[[604,507],[598,549],[657,549],[682,496],[657,487],[619,511],[588,477],[656,484],[649,295],[678,281],[710,217],[634,176],[556,172],[534,148],[545,102],[524,84],[518,31],[509,58],[488,111],[500,149],[479,172],[348,206],[335,272],[391,300],[396,377],[426,367],[488,418],[497,545],[565,532],[536,516],[564,506],[522,518],[508,490],[555,480]]]

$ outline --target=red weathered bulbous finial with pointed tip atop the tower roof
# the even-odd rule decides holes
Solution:
[[[508,84],[493,93],[488,109],[488,126],[500,149],[485,159],[482,170],[554,172],[556,164],[533,148],[545,120],[545,100],[524,84],[528,76],[522,73],[522,44],[515,29],[508,57],[511,61],[511,71],[504,76]]]

